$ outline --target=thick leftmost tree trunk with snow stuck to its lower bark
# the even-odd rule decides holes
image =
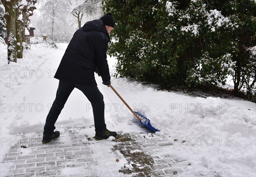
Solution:
[[[16,52],[16,13],[15,6],[19,0],[1,0],[3,6],[5,7],[6,13],[4,15],[6,19],[6,28],[7,28],[7,38],[8,38],[8,64],[10,62],[17,62],[17,52]]]

